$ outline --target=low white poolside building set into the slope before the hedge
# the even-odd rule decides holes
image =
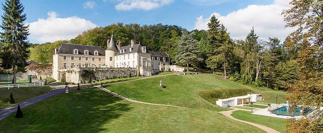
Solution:
[[[257,102],[261,101],[262,97],[260,94],[248,94],[245,96],[239,96],[239,97],[230,97],[226,99],[218,99],[216,101],[216,104],[220,107],[230,107],[230,106],[236,106],[241,104],[241,100],[245,100],[245,102],[248,102],[246,99],[250,98],[250,102]]]

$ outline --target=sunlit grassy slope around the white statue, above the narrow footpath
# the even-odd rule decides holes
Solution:
[[[159,81],[167,88],[159,88]],[[224,89],[224,88],[248,88],[255,93],[268,96],[275,101],[274,96],[279,96],[278,100],[284,101],[285,92],[274,90],[261,90],[245,86],[239,83],[223,80],[219,76],[212,74],[203,75],[170,75],[164,77],[149,78],[143,80],[129,81],[120,84],[112,84],[106,87],[125,97],[159,104],[170,104],[190,108],[209,108],[214,111],[228,110],[214,105],[198,95],[201,90]]]

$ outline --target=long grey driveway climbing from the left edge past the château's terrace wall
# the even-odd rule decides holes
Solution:
[[[178,74],[179,72],[174,72],[171,74],[165,74],[165,75],[157,75],[157,76],[149,76],[149,77],[143,77],[143,78],[138,78],[138,79],[133,79],[133,80],[141,80],[141,79],[147,79],[147,78],[154,78],[154,77],[162,77],[162,76],[167,76],[167,75],[174,75],[174,74]],[[127,80],[127,81],[120,81],[120,82],[114,82],[114,83],[121,83],[121,82],[128,82],[128,81],[133,81],[133,80]],[[105,84],[113,84],[113,83],[105,83]],[[15,113],[17,111],[17,107],[18,104],[20,105],[20,107],[26,108],[29,107],[31,105],[34,105],[36,103],[39,103],[41,101],[44,101],[50,97],[55,97],[59,94],[63,94],[65,93],[65,85],[58,85],[58,84],[50,84],[48,83],[49,86],[55,87],[56,89],[49,91],[48,93],[44,94],[44,95],[40,95],[31,99],[28,99],[26,101],[11,105],[9,107],[3,108],[0,110],[0,120],[3,118],[8,117],[9,115]],[[93,86],[98,86],[99,84],[94,84]],[[73,91],[77,89],[77,85],[68,85],[68,91]],[[90,87],[90,84],[87,85],[80,85],[80,88],[86,88],[86,87]]]

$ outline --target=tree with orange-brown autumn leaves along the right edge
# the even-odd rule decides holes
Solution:
[[[323,105],[323,1],[292,0],[292,7],[284,10],[287,27],[297,27],[287,39],[287,46],[301,44],[297,62],[300,80],[288,85],[287,99],[291,108],[297,105]],[[301,119],[287,120],[287,133],[323,132],[322,112]]]

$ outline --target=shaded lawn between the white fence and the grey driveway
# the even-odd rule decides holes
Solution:
[[[27,99],[43,95],[50,90],[52,87],[49,86],[38,86],[38,87],[20,87],[20,88],[0,88],[0,109],[8,107],[12,104],[8,104],[7,101],[10,99],[10,93],[14,96],[15,102],[19,103]]]

